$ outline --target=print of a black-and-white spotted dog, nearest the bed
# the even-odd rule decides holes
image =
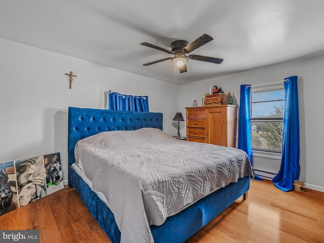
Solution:
[[[60,153],[44,155],[47,194],[64,187]],[[62,182],[62,183],[61,183]]]

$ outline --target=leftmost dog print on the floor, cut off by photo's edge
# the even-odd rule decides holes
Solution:
[[[14,161],[0,164],[0,216],[18,209]]]

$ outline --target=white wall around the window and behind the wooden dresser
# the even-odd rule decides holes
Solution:
[[[239,103],[241,84],[261,84],[298,76],[299,122],[300,122],[300,180],[307,188],[324,191],[324,159],[322,156],[324,138],[324,56],[291,61],[238,74],[227,75],[182,85],[179,90],[179,107],[185,113],[193,100],[200,101],[210,86],[222,87],[225,93],[234,94],[235,104]],[[185,126],[181,130],[185,135]],[[276,161],[273,161],[276,163]],[[273,170],[278,170],[274,164]],[[277,168],[277,169],[275,169]],[[260,168],[257,168],[260,169]],[[261,168],[262,169],[262,168]]]

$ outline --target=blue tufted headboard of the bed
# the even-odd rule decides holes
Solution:
[[[75,162],[74,147],[80,139],[106,131],[140,128],[162,130],[162,124],[162,113],[69,107],[68,164],[71,166]]]

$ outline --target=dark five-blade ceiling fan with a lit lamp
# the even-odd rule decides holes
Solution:
[[[220,63],[222,63],[222,61],[224,59],[216,58],[216,57],[200,56],[200,55],[194,55],[194,54],[191,54],[189,56],[185,55],[185,54],[188,54],[188,53],[196,50],[197,48],[205,45],[206,43],[209,43],[212,40],[213,40],[212,36],[210,36],[208,34],[203,34],[191,43],[188,43],[187,41],[183,41],[183,40],[174,41],[171,43],[171,51],[161,48],[161,47],[158,47],[158,46],[155,46],[153,44],[149,44],[147,42],[141,43],[141,45],[143,45],[143,46],[154,48],[156,50],[175,55],[174,57],[168,57],[168,58],[160,59],[160,60],[157,60],[154,62],[145,63],[145,64],[143,64],[143,66],[149,66],[149,65],[152,65],[152,64],[155,64],[158,62],[172,60],[172,62],[177,67],[179,67],[180,72],[186,72],[187,71],[186,63],[187,63],[188,59],[220,64]]]

